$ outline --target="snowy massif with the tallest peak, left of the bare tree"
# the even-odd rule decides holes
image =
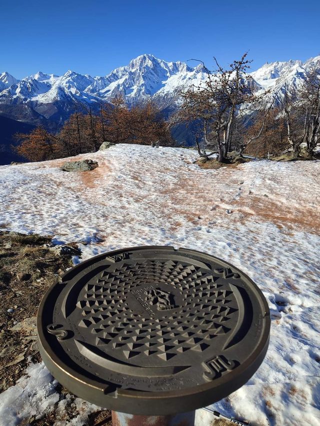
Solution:
[[[13,77],[12,77],[13,78]],[[14,79],[0,91],[0,103],[51,103],[59,100],[109,101],[122,93],[128,103],[173,93],[177,86],[204,80],[202,67],[183,62],[165,62],[144,54],[104,77],[67,71],[62,76],[37,72],[20,81]]]

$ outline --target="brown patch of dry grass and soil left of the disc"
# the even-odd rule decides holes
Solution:
[[[59,273],[72,266],[71,256],[56,256],[43,247],[50,242],[48,237],[0,232],[0,392],[24,373],[27,357],[39,361],[35,330],[30,338],[23,330],[10,329],[15,323],[35,317],[48,287]],[[21,361],[7,366],[17,355],[21,355]]]

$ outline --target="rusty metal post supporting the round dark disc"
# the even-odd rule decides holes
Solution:
[[[195,411],[169,416],[138,416],[112,411],[112,426],[194,426]]]

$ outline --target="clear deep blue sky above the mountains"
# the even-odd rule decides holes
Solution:
[[[142,53],[211,68],[213,55],[225,65],[249,50],[254,70],[320,54],[320,1],[4,1],[0,35],[0,72],[17,78],[106,75]]]

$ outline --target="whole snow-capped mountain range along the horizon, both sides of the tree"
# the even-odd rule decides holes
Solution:
[[[298,87],[306,71],[314,66],[320,68],[320,56],[304,63],[299,60],[265,63],[250,73],[248,84],[261,92],[268,89],[265,98],[268,101],[274,92],[279,92],[284,81]],[[76,104],[87,103],[94,108],[119,93],[130,104],[153,99],[162,108],[174,109],[176,89],[198,85],[206,78],[202,65],[191,68],[183,62],[166,62],[151,54],[140,55],[128,65],[102,77],[82,75],[71,70],[61,76],[39,71],[17,80],[4,72],[0,75],[0,115],[24,121],[27,112],[26,115],[32,120],[38,120],[40,115],[42,119],[60,123],[72,113]],[[13,108],[18,105],[19,109]],[[14,111],[22,112],[12,117]]]

